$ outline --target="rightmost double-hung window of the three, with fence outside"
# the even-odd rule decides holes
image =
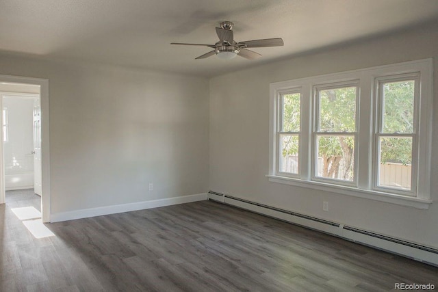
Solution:
[[[376,80],[375,189],[414,195],[418,81],[417,74]]]

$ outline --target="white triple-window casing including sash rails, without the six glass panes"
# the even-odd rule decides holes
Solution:
[[[332,193],[368,198],[428,209],[430,200],[430,155],[432,133],[433,61],[423,59],[372,68],[339,72],[270,84],[270,164],[268,178],[274,183],[297,185]],[[412,133],[383,133],[382,86],[392,81],[414,81]],[[356,86],[355,131],[326,132],[318,129],[318,91]],[[298,173],[279,171],[281,96],[300,93],[300,131]],[[352,181],[315,176],[317,135],[354,137],[354,175]],[[411,186],[387,187],[378,183],[380,137],[407,137],[412,143]]]

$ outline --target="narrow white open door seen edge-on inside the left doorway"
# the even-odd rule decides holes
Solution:
[[[40,98],[34,101],[34,191],[41,196],[42,175],[41,175],[41,107]]]

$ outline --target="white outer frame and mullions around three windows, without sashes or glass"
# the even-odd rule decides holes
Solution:
[[[415,126],[416,141],[413,150],[415,161],[415,189],[412,187],[412,194],[376,187],[375,165],[376,165],[376,127],[378,125],[376,114],[378,107],[378,81],[385,78],[398,78],[403,76],[420,77],[417,108],[414,109],[418,116]],[[315,180],[312,174],[312,155],[315,154],[315,138],[313,130],[314,121],[314,88],[335,83],[355,83],[359,88],[357,100],[357,141],[355,139],[355,168],[357,168],[357,182],[354,185],[339,184],[333,181]],[[277,155],[279,145],[276,138],[278,128],[279,94],[288,90],[301,89],[301,110],[300,110],[300,146],[299,174],[297,176],[283,176],[278,172]],[[432,203],[430,200],[430,155],[432,137],[432,100],[433,100],[433,60],[422,59],[413,62],[404,62],[360,70],[339,72],[330,75],[320,75],[296,80],[270,83],[270,159],[268,179],[274,183],[296,185],[322,191],[330,191],[334,194],[367,198],[381,202],[400,204],[403,206],[415,207],[417,209],[428,209]],[[374,166],[373,166],[374,165]],[[413,181],[411,182],[413,183]]]

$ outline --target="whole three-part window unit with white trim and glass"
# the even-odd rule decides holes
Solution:
[[[271,83],[270,181],[427,209],[431,59]]]

